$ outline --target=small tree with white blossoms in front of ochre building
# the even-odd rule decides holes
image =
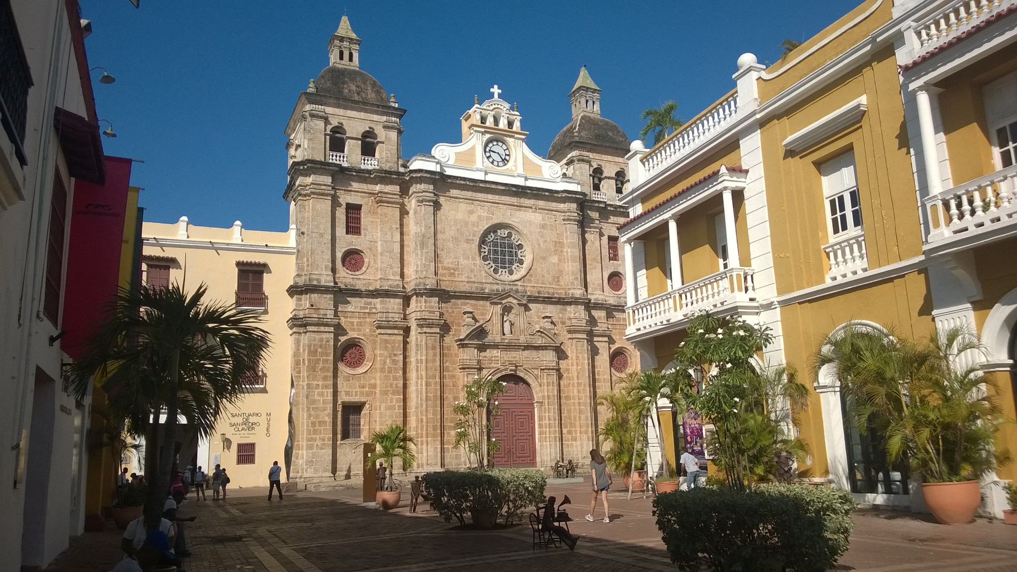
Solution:
[[[675,376],[689,406],[713,424],[707,446],[728,487],[777,475],[777,459],[800,458],[802,441],[794,436],[797,414],[807,405],[809,390],[793,368],[760,371],[755,358],[773,341],[765,326],[738,316],[696,316],[675,352]]]

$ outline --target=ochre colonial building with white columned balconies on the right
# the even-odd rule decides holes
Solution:
[[[772,328],[768,365],[809,372],[831,334],[866,323],[925,338],[968,324],[1014,418],[1017,2],[868,0],[652,149],[634,141],[624,245],[640,365],[670,367],[692,315]],[[807,375],[805,377],[809,377]],[[820,372],[798,469],[861,504],[922,510],[905,467],[860,435]],[[1001,445],[1017,450],[1007,427]],[[1005,508],[1001,480],[983,510]]]

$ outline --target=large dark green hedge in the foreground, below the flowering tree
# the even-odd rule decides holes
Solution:
[[[850,494],[803,485],[697,488],[660,495],[653,507],[671,561],[697,572],[823,572],[854,527]]]

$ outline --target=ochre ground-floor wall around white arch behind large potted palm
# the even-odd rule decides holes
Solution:
[[[801,438],[813,457],[812,476],[827,476],[823,408],[813,390],[816,379],[810,364],[824,339],[851,320],[876,322],[905,337],[926,338],[933,333],[932,299],[924,272],[911,272],[892,281],[814,302],[780,309],[784,358],[798,369],[810,387],[809,410],[801,416]]]

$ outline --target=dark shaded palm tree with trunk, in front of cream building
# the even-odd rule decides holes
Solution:
[[[261,318],[233,305],[204,300],[207,287],[188,295],[178,283],[164,289],[121,290],[91,339],[85,357],[68,368],[70,389],[83,398],[104,379],[112,406],[127,426],[145,435],[149,479],[145,524],[159,524],[175,454],[177,416],[207,436],[224,408],[244,393],[244,379],[268,348]],[[165,422],[160,418],[165,414]],[[159,451],[160,429],[163,441]]]

